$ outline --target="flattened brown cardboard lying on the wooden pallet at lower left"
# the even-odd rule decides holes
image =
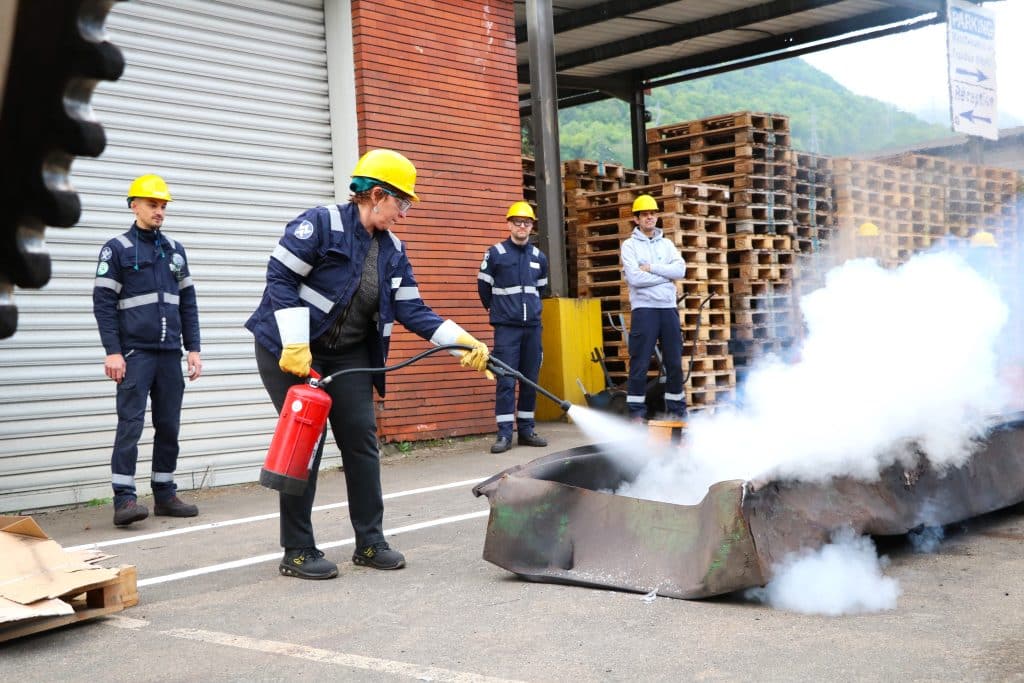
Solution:
[[[73,614],[59,597],[117,578],[118,569],[91,563],[103,557],[66,551],[32,517],[0,515],[0,624]]]

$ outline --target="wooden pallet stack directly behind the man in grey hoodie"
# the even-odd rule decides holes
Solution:
[[[735,387],[728,351],[728,188],[667,182],[581,195],[577,201],[580,296],[601,301],[608,371],[615,383],[625,383],[629,373],[626,331],[632,316],[620,250],[633,233],[633,201],[644,194],[657,200],[665,237],[676,245],[687,262],[686,279],[677,284],[687,367],[693,358],[693,370],[684,390],[687,404],[692,409],[708,408],[731,397]],[[649,372],[656,373],[656,366]]]

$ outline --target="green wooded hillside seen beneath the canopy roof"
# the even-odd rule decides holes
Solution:
[[[892,104],[850,92],[803,59],[658,88],[647,97],[647,108],[650,127],[730,112],[782,114],[790,117],[795,148],[830,156],[889,150],[950,134]],[[560,111],[559,135],[562,159],[632,165],[629,109],[622,100]]]

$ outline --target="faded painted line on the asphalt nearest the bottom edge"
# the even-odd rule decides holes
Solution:
[[[420,665],[395,661],[394,659],[380,659],[378,657],[368,657],[359,654],[348,654],[345,652],[335,652],[318,647],[306,647],[294,643],[283,643],[276,640],[259,640],[247,636],[236,636],[229,633],[219,633],[217,631],[204,631],[202,629],[173,629],[171,631],[161,631],[161,635],[168,635],[173,638],[182,638],[200,643],[212,643],[214,645],[224,645],[226,647],[238,647],[253,652],[263,652],[265,654],[278,654],[282,656],[306,659],[318,664],[338,665],[348,669],[358,669],[361,671],[372,671],[379,674],[389,674],[392,676],[404,676],[418,681],[445,681],[446,683],[514,683],[505,678],[493,678],[490,676],[479,676],[451,669],[439,667],[424,667]]]

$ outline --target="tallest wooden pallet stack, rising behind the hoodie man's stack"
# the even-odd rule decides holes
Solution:
[[[794,163],[790,120],[739,112],[647,131],[655,181],[687,178],[730,188],[729,348],[737,373],[793,343]],[[815,188],[816,189],[816,188]],[[805,207],[801,217],[808,220]]]

